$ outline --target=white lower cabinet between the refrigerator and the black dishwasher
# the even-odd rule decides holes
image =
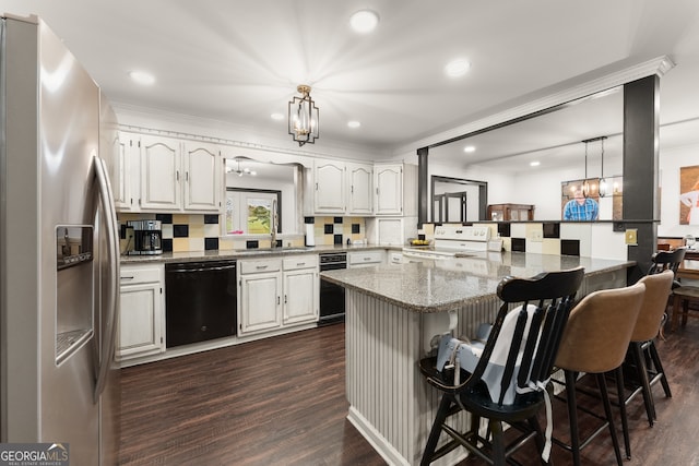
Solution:
[[[164,266],[121,265],[116,359],[165,351]]]

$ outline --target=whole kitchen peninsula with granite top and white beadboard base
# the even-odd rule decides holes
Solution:
[[[579,265],[585,268],[582,296],[626,286],[633,262],[498,252],[321,273],[346,289],[347,418],[389,464],[419,464],[439,395],[416,362],[435,335],[453,330],[467,336],[489,322],[499,306],[495,290],[507,275]],[[438,464],[454,464],[459,454]]]

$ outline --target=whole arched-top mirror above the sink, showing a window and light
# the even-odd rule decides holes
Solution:
[[[301,165],[235,157],[226,158],[225,167],[226,215],[223,235],[269,236],[259,231],[269,225],[273,206],[277,208],[281,226],[277,232],[301,231]]]

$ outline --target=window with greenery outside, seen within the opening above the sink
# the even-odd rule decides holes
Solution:
[[[270,235],[273,205],[276,203],[276,231],[282,231],[282,192],[226,188],[226,235]]]

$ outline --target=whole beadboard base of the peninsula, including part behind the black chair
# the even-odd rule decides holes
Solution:
[[[417,369],[425,356],[424,319],[411,311],[360,291],[346,290],[347,418],[389,464],[419,464],[439,405],[439,392]],[[490,322],[499,300],[487,297],[455,310],[454,334],[471,334]],[[460,415],[452,420],[467,426]],[[437,464],[464,457],[458,450]]]

